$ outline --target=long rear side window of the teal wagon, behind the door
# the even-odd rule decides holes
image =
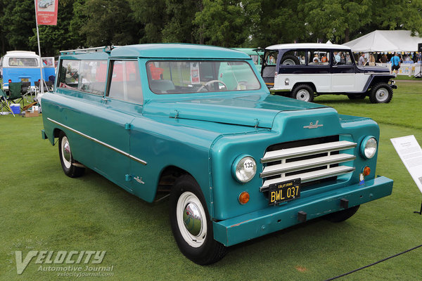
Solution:
[[[106,60],[62,60],[58,87],[102,96],[106,75]]]

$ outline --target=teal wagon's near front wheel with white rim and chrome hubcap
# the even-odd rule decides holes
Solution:
[[[170,223],[182,254],[201,266],[215,263],[226,247],[214,240],[212,221],[198,183],[189,175],[174,183],[170,194]]]

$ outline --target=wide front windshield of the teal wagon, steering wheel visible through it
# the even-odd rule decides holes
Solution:
[[[244,61],[149,61],[148,82],[154,93],[197,93],[260,89]]]

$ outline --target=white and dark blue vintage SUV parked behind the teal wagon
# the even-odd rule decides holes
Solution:
[[[312,101],[323,94],[350,99],[369,96],[371,103],[389,103],[392,89],[388,67],[358,66],[349,47],[335,44],[279,44],[265,49],[262,77],[271,91]],[[276,64],[267,63],[276,58]]]

